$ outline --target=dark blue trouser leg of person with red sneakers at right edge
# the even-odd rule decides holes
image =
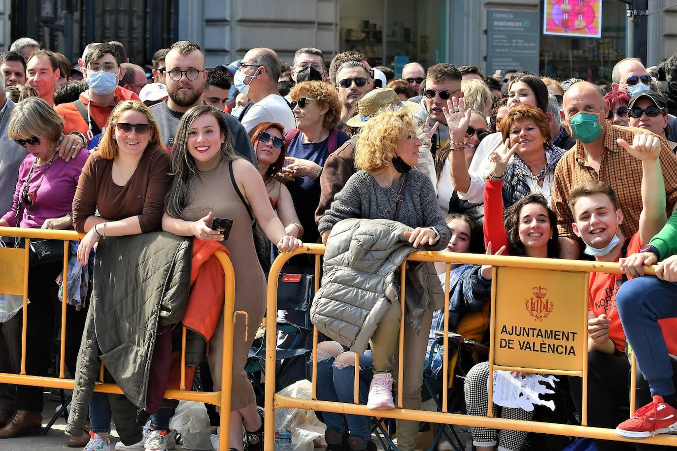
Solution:
[[[675,392],[672,364],[658,320],[677,317],[676,299],[677,283],[661,281],[654,276],[627,281],[616,295],[626,338],[651,387],[651,395],[669,396]]]

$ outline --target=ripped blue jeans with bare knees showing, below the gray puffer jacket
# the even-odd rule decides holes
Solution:
[[[367,404],[369,385],[374,377],[372,352],[359,356],[359,404]],[[355,353],[343,352],[336,341],[318,344],[318,400],[353,404]],[[362,415],[322,412],[327,429],[371,440],[371,419]]]

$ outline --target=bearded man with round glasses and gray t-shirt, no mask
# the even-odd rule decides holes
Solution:
[[[165,65],[164,75],[169,98],[152,105],[150,112],[158,122],[162,133],[162,145],[171,151],[174,135],[183,114],[190,108],[204,103],[202,91],[207,74],[204,70],[202,49],[190,41],[174,43],[165,57]],[[291,113],[291,110],[289,112]],[[242,124],[230,114],[223,111],[221,113],[234,137],[235,151],[258,168],[254,148]]]

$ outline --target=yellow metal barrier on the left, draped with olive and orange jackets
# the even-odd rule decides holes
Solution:
[[[47,229],[21,229],[18,227],[0,227],[0,237],[16,237],[26,239],[25,249],[0,248],[0,293],[22,295],[24,307],[20,313],[23,315],[22,323],[22,348],[21,370],[19,374],[0,373],[0,383],[16,385],[34,385],[37,387],[50,387],[60,389],[73,389],[74,379],[67,379],[65,375],[66,355],[66,298],[68,293],[68,245],[70,241],[79,241],[83,235],[75,231],[57,231]],[[61,305],[61,351],[59,362],[59,377],[43,377],[26,375],[26,325],[28,316],[26,306],[28,302],[28,253],[31,239],[56,239],[64,241],[64,282],[63,302]],[[219,449],[227,450],[228,435],[230,433],[230,400],[232,390],[232,355],[234,345],[234,321],[235,321],[235,271],[230,258],[223,251],[215,253],[216,258],[223,266],[225,276],[225,299],[223,304],[224,318],[232,318],[231,321],[223,321],[223,352],[227,353],[221,364],[221,391],[192,391],[185,389],[185,337],[186,329],[183,328],[181,345],[181,386],[180,389],[167,389],[165,398],[173,400],[185,400],[204,402],[219,406],[221,410],[221,435],[219,437]],[[190,387],[192,388],[192,387]],[[95,383],[94,391],[111,394],[123,394],[123,391],[114,383],[104,383],[104,367],[101,366],[100,380]]]

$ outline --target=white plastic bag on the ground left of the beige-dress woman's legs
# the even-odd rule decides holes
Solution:
[[[169,428],[181,434],[184,450],[211,451],[209,415],[202,402],[181,401],[169,421]]]

